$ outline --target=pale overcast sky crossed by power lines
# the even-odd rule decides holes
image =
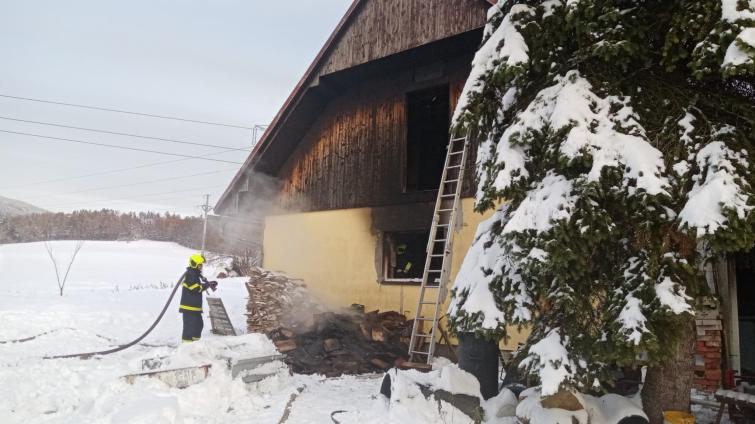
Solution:
[[[0,0],[0,95],[243,127],[268,124],[350,3]],[[217,153],[252,142],[245,129],[0,97],[0,196],[51,211],[198,214],[202,195],[211,194],[214,203],[239,165],[3,131],[213,154],[208,157],[229,162],[243,162],[248,152]]]

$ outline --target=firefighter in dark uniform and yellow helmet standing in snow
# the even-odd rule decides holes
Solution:
[[[197,341],[202,337],[202,292],[208,289],[215,289],[218,286],[217,281],[207,281],[202,275],[202,266],[205,263],[204,256],[200,254],[191,255],[189,258],[189,267],[181,281],[183,289],[181,291],[181,305],[178,312],[183,314],[184,329],[181,341],[189,343]]]

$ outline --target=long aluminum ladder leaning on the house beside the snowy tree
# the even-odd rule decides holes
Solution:
[[[409,342],[409,358],[417,363],[421,361],[429,364],[435,353],[438,321],[441,318],[440,306],[446,299],[451,272],[454,228],[458,208],[461,207],[461,186],[468,150],[469,138],[466,136],[452,137],[448,143]],[[431,323],[430,330],[423,332],[427,322]]]

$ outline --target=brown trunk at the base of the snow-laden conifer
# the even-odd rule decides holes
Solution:
[[[695,318],[680,317],[679,342],[674,354],[657,367],[648,368],[642,387],[642,405],[650,424],[663,424],[663,411],[690,410],[695,365]]]

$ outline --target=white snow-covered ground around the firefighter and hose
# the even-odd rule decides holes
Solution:
[[[52,242],[59,266],[74,242]],[[160,242],[88,241],[73,263],[64,296],[43,243],[0,245],[0,342],[49,332],[24,343],[0,343],[0,423],[332,423],[386,422],[376,394],[379,376],[325,379],[286,372],[246,385],[232,379],[218,356],[274,353],[249,334],[214,336],[205,317],[203,339],[180,344],[178,299],[143,344],[90,360],[46,355],[104,350],[135,339],[156,318],[191,250]],[[64,269],[63,269],[64,271]],[[211,276],[208,266],[205,275]],[[244,279],[220,280],[218,291],[234,326],[245,327]],[[206,309],[206,308],[205,308]],[[212,364],[204,382],[179,390],[152,379],[133,385],[142,359],[168,356],[174,366]],[[377,408],[377,409],[375,409]]]

